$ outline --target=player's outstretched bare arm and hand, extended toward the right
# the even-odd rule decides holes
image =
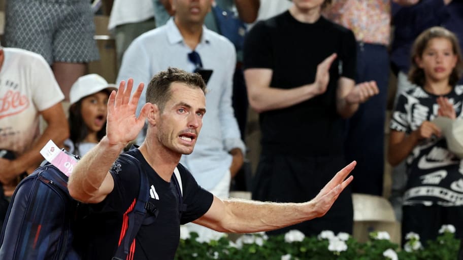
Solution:
[[[208,212],[194,223],[220,232],[251,233],[275,230],[321,217],[352,181],[352,176],[347,179],[346,177],[355,164],[352,162],[344,167],[314,199],[306,203],[270,203],[238,199],[222,201],[214,197]]]

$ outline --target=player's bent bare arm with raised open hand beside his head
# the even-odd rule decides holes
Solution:
[[[77,164],[69,178],[68,189],[71,196],[81,202],[103,201],[114,188],[109,170],[119,153],[142,129],[148,104],[142,108],[139,118],[135,116],[138,100],[143,90],[141,83],[130,99],[133,79],[122,81],[119,90],[111,93],[108,100],[108,120],[106,136],[90,150]]]

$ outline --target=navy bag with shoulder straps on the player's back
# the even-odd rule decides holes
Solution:
[[[133,156],[121,154],[119,160],[137,164],[140,169],[138,160]],[[173,179],[182,205],[179,176],[176,169]],[[69,195],[67,182],[68,176],[46,163],[18,184],[0,234],[0,259],[83,260],[78,248],[85,241],[75,241],[74,238],[76,229],[81,232],[85,228],[79,222],[89,211],[85,204]],[[141,225],[154,221],[152,214],[145,217],[147,210],[157,210],[148,202],[148,183],[146,173],[140,170],[139,196],[134,209],[128,214],[127,232],[118,245],[114,260],[127,259],[129,246]]]

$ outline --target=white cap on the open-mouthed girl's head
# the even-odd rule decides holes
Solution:
[[[107,90],[108,93],[116,90],[117,87],[114,84],[109,84],[103,77],[97,74],[88,74],[80,77],[71,87],[69,93],[69,99],[71,105],[86,97],[88,95]]]

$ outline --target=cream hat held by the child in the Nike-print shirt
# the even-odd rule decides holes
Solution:
[[[463,159],[463,119],[450,119],[437,117],[433,120],[447,140],[447,147],[450,152]]]

